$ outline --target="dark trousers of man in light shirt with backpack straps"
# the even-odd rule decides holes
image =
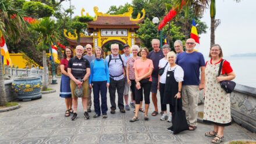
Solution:
[[[125,89],[125,78],[122,80],[115,81],[113,78],[110,78],[109,84],[109,96],[110,96],[110,103],[111,109],[116,110],[116,89],[118,91],[118,107],[119,109],[123,109],[125,107],[123,105],[123,91]]]

